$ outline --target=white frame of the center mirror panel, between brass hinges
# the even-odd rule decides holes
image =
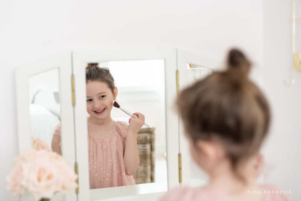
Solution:
[[[75,77],[75,128],[76,128],[76,158],[79,164],[79,200],[109,199],[135,196],[158,197],[162,193],[151,192],[156,183],[138,184],[101,189],[89,189],[88,172],[88,139],[86,119],[86,88],[85,66],[87,62],[116,61],[116,60],[149,60],[163,59],[165,65],[165,100],[166,100],[166,151],[168,190],[179,185],[178,178],[178,115],[173,109],[176,97],[176,50],[166,48],[123,48],[97,49],[95,51],[81,51],[73,54],[73,72]],[[147,192],[138,191],[138,187],[147,188]],[[140,189],[140,188],[139,188]],[[149,191],[150,190],[150,191]],[[144,194],[153,193],[153,194]],[[143,195],[142,195],[143,194]],[[119,198],[120,199],[120,198]],[[131,198],[132,199],[132,198]],[[131,200],[129,199],[129,200]]]

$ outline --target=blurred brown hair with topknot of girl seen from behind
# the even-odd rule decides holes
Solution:
[[[248,79],[251,62],[231,49],[227,69],[185,88],[176,105],[192,141],[222,143],[234,172],[242,159],[259,151],[270,123],[268,102]]]

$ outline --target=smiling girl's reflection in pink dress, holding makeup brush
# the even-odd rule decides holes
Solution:
[[[98,63],[86,67],[88,117],[88,154],[90,189],[135,184],[133,174],[139,165],[137,133],[144,115],[133,113],[126,122],[113,121],[111,110],[118,90],[109,69]],[[60,129],[57,125],[52,150],[61,154]]]

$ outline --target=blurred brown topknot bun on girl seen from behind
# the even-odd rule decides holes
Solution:
[[[229,51],[227,57],[228,71],[233,72],[239,77],[247,77],[251,65],[251,62],[240,50],[233,48]]]

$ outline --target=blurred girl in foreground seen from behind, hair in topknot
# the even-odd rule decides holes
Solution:
[[[273,185],[259,185],[270,108],[248,79],[251,63],[232,49],[227,70],[215,72],[181,91],[176,105],[193,160],[209,175],[205,187],[178,187],[161,201],[288,201]],[[278,191],[277,191],[278,190]]]

